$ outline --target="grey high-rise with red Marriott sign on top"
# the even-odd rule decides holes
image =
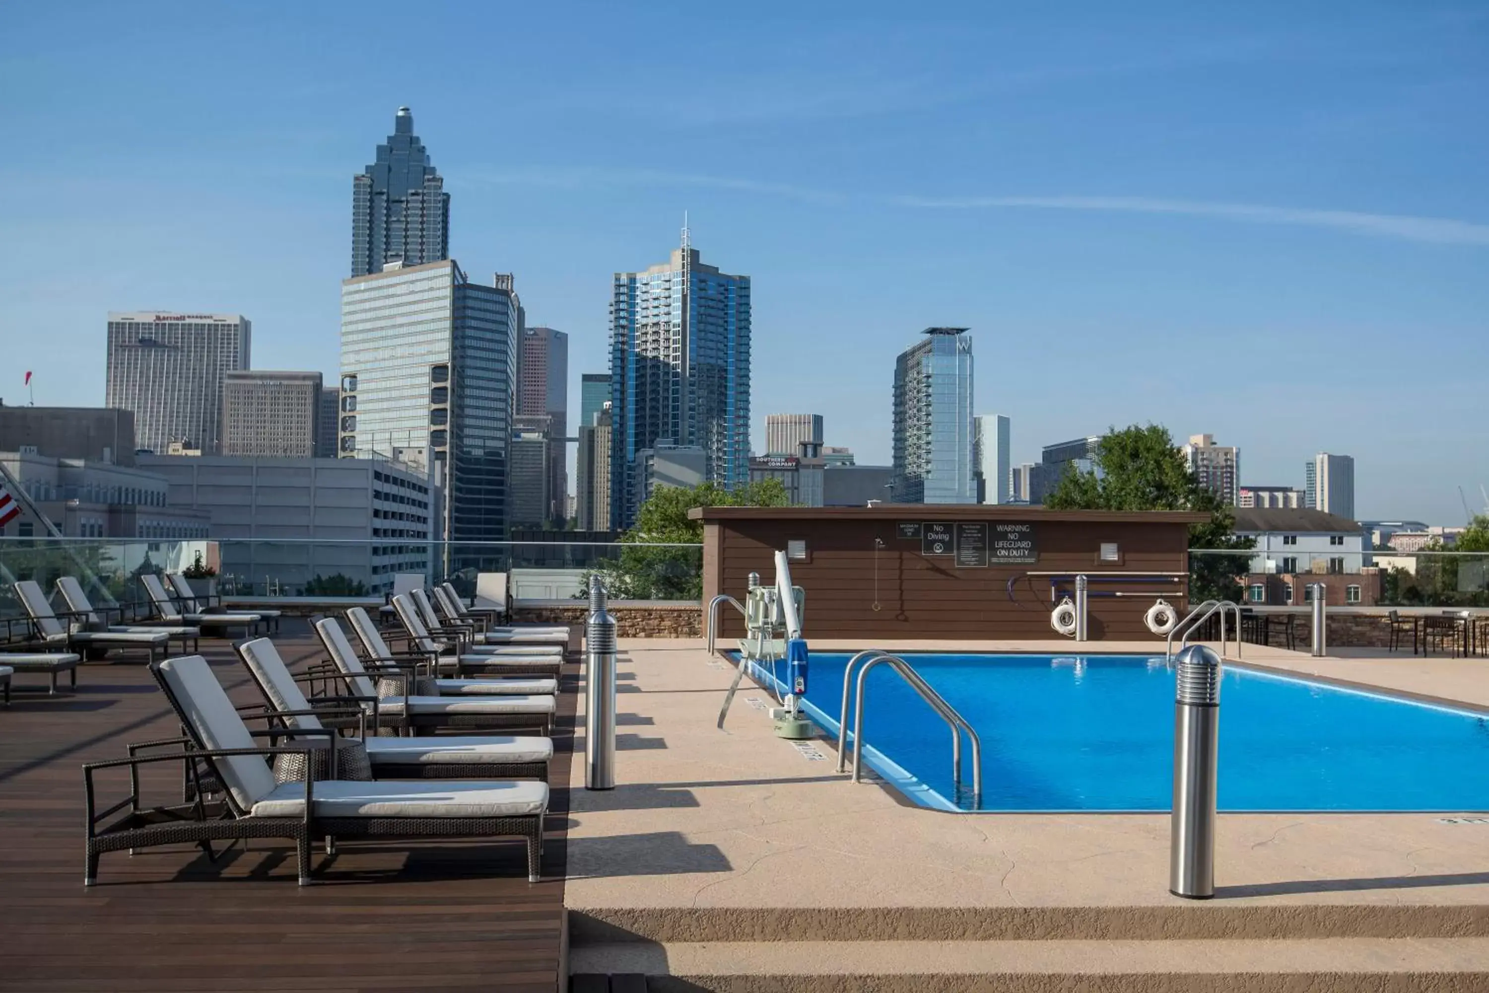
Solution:
[[[222,444],[222,380],[247,369],[252,326],[243,314],[109,314],[104,406],[134,412],[135,444],[164,453]]]

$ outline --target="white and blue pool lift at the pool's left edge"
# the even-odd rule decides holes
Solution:
[[[724,697],[724,707],[719,710],[719,729],[724,729],[724,719],[728,716],[730,704],[739,691],[740,679],[744,676],[746,664],[753,662],[761,668],[770,668],[771,679],[777,688],[782,686],[776,676],[776,665],[782,660],[786,662],[786,683],[780,694],[780,707],[771,709],[776,721],[776,734],[783,738],[801,740],[812,737],[812,721],[801,710],[801,697],[807,692],[807,642],[801,637],[801,618],[806,612],[807,594],[801,587],[791,582],[791,566],[786,552],[776,552],[776,584],[762,587],[759,576],[750,573],[749,593],[744,598],[746,634],[740,639],[740,665],[734,673],[734,682]]]

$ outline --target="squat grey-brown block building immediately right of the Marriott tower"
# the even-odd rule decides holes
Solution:
[[[222,378],[222,454],[311,459],[320,414],[319,372],[228,372]]]

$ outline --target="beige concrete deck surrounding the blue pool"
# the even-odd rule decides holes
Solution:
[[[1074,654],[1071,642],[913,648]],[[1245,661],[1489,707],[1486,660],[1315,660],[1246,645]],[[1221,814],[1217,899],[1184,901],[1167,892],[1167,814],[914,807],[837,774],[825,735],[806,749],[774,737],[768,695],[747,679],[719,731],[733,674],[698,640],[621,642],[618,785],[575,789],[570,808],[575,971],[618,948],[639,954],[615,944],[636,939],[1489,938],[1489,817]],[[576,746],[575,783],[582,761]],[[1462,948],[1489,977],[1485,942]]]

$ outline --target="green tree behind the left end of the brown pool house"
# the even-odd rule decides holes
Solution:
[[[695,487],[660,485],[636,512],[636,524],[621,534],[621,554],[596,573],[618,600],[697,600],[703,596],[703,549],[658,548],[701,545],[703,521],[688,512],[698,506],[788,506],[780,479],[725,490],[715,482]],[[588,588],[588,576],[584,587]],[[585,596],[581,593],[581,596]]]

